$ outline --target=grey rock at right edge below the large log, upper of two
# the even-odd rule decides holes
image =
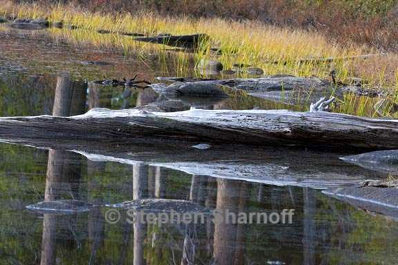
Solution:
[[[398,150],[383,150],[360,155],[340,157],[346,161],[373,171],[398,175]]]

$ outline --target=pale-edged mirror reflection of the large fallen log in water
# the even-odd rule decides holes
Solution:
[[[18,144],[37,148],[72,150],[90,161],[112,161],[132,166],[170,168],[190,175],[206,175],[277,186],[335,188],[386,178],[341,161],[341,153],[300,148],[259,148],[236,144],[211,144],[206,150],[192,143],[126,144],[71,139],[26,139]],[[195,144],[198,144],[195,143]]]

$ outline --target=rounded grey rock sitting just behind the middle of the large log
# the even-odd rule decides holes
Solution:
[[[228,95],[215,84],[202,83],[174,83],[167,87],[153,86],[156,92],[165,96],[202,96],[202,97],[228,97]]]

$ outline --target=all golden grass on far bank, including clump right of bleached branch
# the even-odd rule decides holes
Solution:
[[[50,28],[50,36],[66,41],[74,46],[93,46],[99,49],[121,50],[125,55],[138,54],[145,59],[156,53],[162,60],[170,59],[164,52],[164,46],[133,41],[132,37],[117,32],[138,32],[145,35],[171,33],[186,35],[205,33],[211,37],[211,43],[202,43],[200,52],[189,55],[176,52],[173,57],[180,75],[191,67],[191,59],[217,59],[225,69],[234,63],[245,63],[263,68],[266,75],[287,73],[297,76],[327,77],[330,70],[337,70],[338,79],[357,76],[367,79],[370,86],[397,88],[398,57],[374,57],[372,59],[337,60],[333,63],[296,63],[304,58],[352,57],[377,50],[366,46],[345,45],[328,41],[323,35],[305,30],[276,28],[256,21],[229,21],[226,19],[190,19],[188,17],[160,17],[153,13],[139,14],[102,14],[92,13],[73,6],[50,6],[44,8],[35,4],[15,5],[0,0],[0,15],[7,14],[18,18],[43,18],[49,21],[64,21],[67,25],[77,26],[77,30]],[[109,30],[115,34],[99,34],[96,30]],[[209,48],[217,47],[222,55],[214,55]],[[192,58],[193,57],[193,58]],[[386,59],[387,58],[387,59]],[[392,63],[386,60],[393,59]],[[395,61],[394,61],[395,60]],[[278,61],[279,63],[269,63]],[[287,62],[287,63],[285,63]],[[361,102],[358,102],[361,101]],[[394,98],[395,102],[398,98]],[[374,115],[366,98],[346,98],[339,108],[341,112],[357,115]],[[349,104],[348,104],[349,103]]]

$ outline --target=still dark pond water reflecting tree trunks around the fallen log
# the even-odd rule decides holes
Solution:
[[[89,81],[135,74],[153,81],[156,76],[177,75],[172,60],[164,66],[156,58],[142,61],[112,51],[53,47],[40,37],[2,37],[3,117],[50,115],[62,72]],[[114,65],[82,65],[87,60]],[[129,97],[122,96],[124,88],[85,89],[80,112],[133,108],[159,99],[150,88],[132,90]],[[206,108],[302,108],[230,93],[226,101]],[[4,264],[396,264],[394,219],[321,193],[322,188],[387,177],[345,164],[341,155],[345,154],[299,148],[197,150],[78,139],[74,144],[2,143],[1,259]],[[270,216],[286,209],[294,215],[291,223],[276,224],[208,218],[198,224],[131,224],[129,210],[106,206],[145,198],[182,199],[220,212]],[[26,209],[57,199],[79,199],[96,207],[73,214]]]

